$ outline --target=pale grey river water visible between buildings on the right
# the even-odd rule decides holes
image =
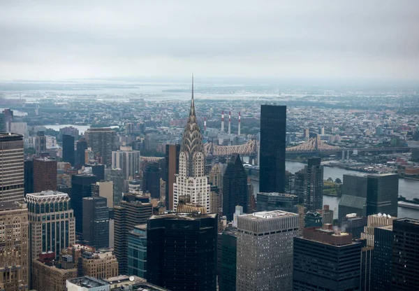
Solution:
[[[296,171],[300,171],[303,169],[305,164],[299,162],[286,162],[285,163],[286,170],[290,171],[291,173],[295,173]],[[330,166],[324,167],[323,178],[332,178],[335,180],[336,178],[340,178],[343,180],[344,173],[355,173],[360,174],[357,171],[350,171],[346,169],[340,168],[332,168]],[[252,180],[253,184],[253,192],[256,194],[259,192],[259,181]],[[419,198],[419,181],[417,180],[405,180],[399,179],[399,195],[406,197],[407,199]],[[337,218],[337,210],[339,205],[339,197],[333,196],[323,196],[323,204],[328,204],[330,209],[334,211],[334,216]],[[402,208],[399,207],[398,209],[398,217],[399,218],[416,218],[419,219],[419,211],[411,208]]]

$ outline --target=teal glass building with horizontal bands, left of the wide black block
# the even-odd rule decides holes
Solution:
[[[128,233],[128,276],[147,278],[147,225]]]

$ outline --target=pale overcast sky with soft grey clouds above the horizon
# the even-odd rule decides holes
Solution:
[[[419,1],[0,1],[0,79],[419,80]]]

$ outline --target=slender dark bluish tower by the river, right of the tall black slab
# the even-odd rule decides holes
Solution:
[[[323,166],[320,158],[309,159],[305,166],[304,208],[316,211],[323,208]]]

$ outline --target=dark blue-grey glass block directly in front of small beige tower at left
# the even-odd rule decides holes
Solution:
[[[105,197],[83,198],[83,239],[94,248],[109,248],[109,208]]]

